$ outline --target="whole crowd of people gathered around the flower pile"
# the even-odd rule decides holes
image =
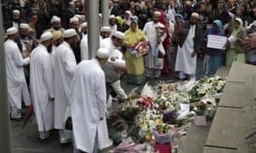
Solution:
[[[109,0],[109,26],[98,16],[96,51],[88,50],[81,0],[4,2],[10,119],[22,121],[21,101],[33,105],[40,140],[59,129],[61,144],[73,139],[74,152],[95,152],[97,138],[100,148],[111,144],[108,102],[137,96],[121,87],[124,71],[128,83],[141,85],[169,73],[195,80],[197,57],[205,77],[233,61],[256,64],[254,1]],[[226,37],[223,48],[207,45],[214,35]],[[69,106],[72,134],[63,123]]]

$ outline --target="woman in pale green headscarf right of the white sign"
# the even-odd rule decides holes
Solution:
[[[226,43],[226,66],[231,66],[233,61],[246,62],[246,49],[244,40],[247,37],[247,32],[242,26],[242,20],[236,18],[233,22],[233,30]]]

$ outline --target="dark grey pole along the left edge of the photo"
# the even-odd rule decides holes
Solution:
[[[3,12],[0,7],[0,23],[3,23]],[[10,126],[9,126],[9,105],[7,99],[7,82],[5,71],[5,54],[3,48],[3,24],[0,24],[0,152],[11,152]]]

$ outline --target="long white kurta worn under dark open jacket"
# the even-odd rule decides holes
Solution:
[[[183,47],[177,48],[177,59],[175,71],[183,71],[185,74],[195,74],[196,71],[196,55],[192,58],[191,53],[194,49],[195,26],[190,26],[189,34],[183,43]]]

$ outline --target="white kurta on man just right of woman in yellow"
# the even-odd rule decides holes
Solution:
[[[157,59],[157,53],[153,53],[153,46],[156,44],[156,35],[157,32],[155,30],[156,27],[165,27],[160,22],[154,23],[154,21],[147,22],[146,25],[143,28],[143,33],[147,37],[147,40],[150,42],[151,48],[148,50],[148,54],[145,56],[145,67],[148,68],[155,68],[155,69],[161,69],[159,68],[158,59]],[[161,41],[164,41],[166,38],[166,33],[160,37]]]

